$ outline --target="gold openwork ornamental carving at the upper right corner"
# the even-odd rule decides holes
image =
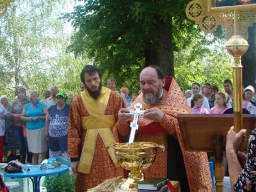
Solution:
[[[191,1],[186,6],[186,15],[205,33],[212,33],[218,26],[222,26],[227,29],[227,39],[232,35],[241,35],[247,39],[247,29],[256,20],[256,4],[216,6],[221,1],[223,0]]]

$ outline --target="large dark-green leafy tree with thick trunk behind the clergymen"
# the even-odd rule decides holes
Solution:
[[[177,33],[185,33],[188,28],[199,33],[186,21],[186,3],[84,1],[84,6],[76,6],[73,13],[64,17],[78,29],[69,50],[76,55],[88,52],[96,65],[100,63],[102,70],[115,77],[134,76],[137,69],[148,65],[158,65],[167,76],[174,76],[173,51],[177,47],[173,36],[180,41],[182,35]],[[178,30],[173,29],[173,20]]]

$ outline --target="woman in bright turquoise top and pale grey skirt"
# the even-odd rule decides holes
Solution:
[[[45,132],[45,117],[47,108],[39,102],[37,92],[32,92],[30,102],[24,106],[21,114],[21,120],[26,122],[27,140],[29,152],[33,153],[34,163],[38,164],[39,154],[42,159],[46,159],[47,139]]]

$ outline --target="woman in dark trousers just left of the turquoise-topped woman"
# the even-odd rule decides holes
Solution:
[[[13,123],[13,131],[16,136],[16,140],[19,143],[20,154],[22,155],[22,163],[26,163],[26,160],[29,164],[32,164],[33,154],[28,151],[27,138],[23,135],[22,126],[25,125],[25,122],[20,119],[21,113],[24,109],[24,106],[29,102],[26,97],[26,88],[24,86],[19,86],[17,88],[17,100],[13,102],[12,109],[10,111],[10,116]]]

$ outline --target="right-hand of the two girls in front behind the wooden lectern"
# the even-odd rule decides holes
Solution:
[[[223,114],[227,109],[225,94],[221,92],[216,93],[215,107],[211,108],[210,114]]]

